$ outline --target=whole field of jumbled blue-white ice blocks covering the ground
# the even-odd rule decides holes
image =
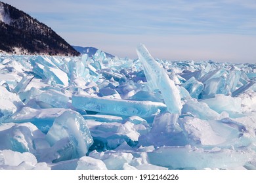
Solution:
[[[0,55],[0,169],[256,169],[256,65]]]

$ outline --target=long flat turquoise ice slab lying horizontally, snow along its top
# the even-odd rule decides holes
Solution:
[[[117,114],[121,116],[153,116],[166,110],[166,105],[152,101],[130,101],[123,99],[106,99],[91,95],[74,95],[72,105],[75,108]]]

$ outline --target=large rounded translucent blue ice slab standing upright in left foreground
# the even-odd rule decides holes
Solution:
[[[45,139],[51,146],[56,143],[62,144],[62,142],[65,146],[68,143],[69,150],[63,151],[64,154],[60,155],[59,159],[62,160],[85,156],[89,147],[93,144],[93,138],[83,116],[75,111],[66,111],[58,116]],[[61,148],[64,148],[64,146]]]

